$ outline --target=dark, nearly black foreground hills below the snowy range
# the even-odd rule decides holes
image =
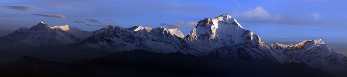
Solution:
[[[274,64],[220,60],[182,53],[134,50],[94,58],[87,64],[43,61],[23,57],[0,66],[4,76],[207,76],[207,77],[332,77],[304,63]]]

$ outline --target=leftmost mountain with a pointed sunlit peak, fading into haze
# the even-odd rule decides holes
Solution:
[[[31,28],[18,28],[15,32],[1,37],[2,41],[10,44],[24,46],[62,46],[75,44],[94,35],[95,32],[79,30],[71,26],[50,27],[44,22],[40,22]]]

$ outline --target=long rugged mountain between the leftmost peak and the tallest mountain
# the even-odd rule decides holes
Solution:
[[[182,39],[183,33],[179,29],[143,28],[135,26],[121,28],[119,26],[104,26],[96,34],[76,44],[86,49],[103,50],[109,52],[147,50],[153,52],[199,55],[191,43]]]

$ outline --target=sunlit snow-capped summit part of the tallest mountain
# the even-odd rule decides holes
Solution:
[[[197,40],[200,36],[211,39],[225,38],[245,31],[241,25],[229,15],[221,15],[215,18],[205,18],[185,37],[186,40]],[[242,32],[243,33],[243,32]],[[205,39],[203,38],[203,39]]]

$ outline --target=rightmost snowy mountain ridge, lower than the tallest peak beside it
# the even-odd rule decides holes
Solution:
[[[297,44],[282,45],[271,44],[270,50],[276,54],[276,58],[281,63],[304,62],[313,68],[321,68],[330,74],[342,74],[347,71],[347,58],[336,53],[321,39],[302,41]]]

